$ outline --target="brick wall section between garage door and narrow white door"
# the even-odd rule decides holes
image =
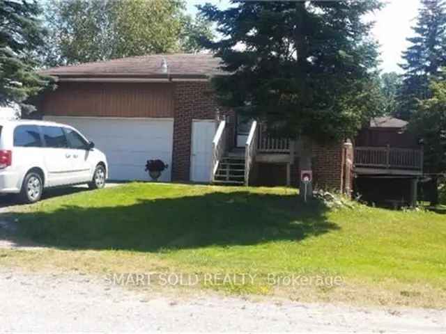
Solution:
[[[177,82],[174,91],[174,148],[172,180],[190,180],[192,120],[216,120],[230,111],[218,106],[210,82]]]

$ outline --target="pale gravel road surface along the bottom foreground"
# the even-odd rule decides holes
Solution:
[[[445,333],[446,312],[147,296],[79,274],[0,269],[0,331]]]

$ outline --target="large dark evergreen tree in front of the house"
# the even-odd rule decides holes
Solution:
[[[220,101],[263,120],[272,134],[309,141],[354,136],[379,108],[377,45],[367,13],[380,1],[233,1],[201,6],[222,39],[203,41],[230,74],[214,79]],[[309,145],[300,168],[311,169]],[[305,152],[304,152],[305,151]]]

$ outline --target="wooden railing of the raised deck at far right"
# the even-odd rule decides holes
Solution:
[[[423,151],[406,148],[357,147],[355,148],[355,166],[369,168],[423,168]]]

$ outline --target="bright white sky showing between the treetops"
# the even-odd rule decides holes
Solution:
[[[187,0],[187,10],[194,15],[197,13],[195,6],[206,2],[220,8],[229,6],[229,0]],[[398,64],[402,51],[409,45],[406,38],[413,35],[411,27],[415,25],[419,6],[420,0],[387,0],[387,6],[372,15],[376,21],[373,34],[380,43],[383,72],[402,72]]]

